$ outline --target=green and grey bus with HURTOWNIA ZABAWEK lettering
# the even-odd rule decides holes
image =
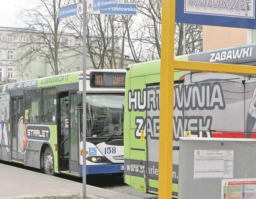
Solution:
[[[175,59],[256,66],[256,44]],[[256,77],[176,70],[174,80],[170,81],[174,81],[174,104],[170,104],[174,107],[174,117],[162,122],[173,122],[169,132],[173,133],[174,147],[170,172],[172,195],[178,197],[179,137],[183,137],[184,132],[196,137],[256,138]],[[124,177],[125,183],[144,193],[158,193],[158,163],[159,153],[162,153],[159,151],[160,99],[160,60],[128,66]]]

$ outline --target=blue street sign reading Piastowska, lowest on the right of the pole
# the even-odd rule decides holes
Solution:
[[[117,4],[116,8],[98,10],[90,14],[119,14],[119,15],[137,15],[137,4]]]

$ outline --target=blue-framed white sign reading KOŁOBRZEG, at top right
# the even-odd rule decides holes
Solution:
[[[256,0],[176,0],[178,23],[256,29]]]

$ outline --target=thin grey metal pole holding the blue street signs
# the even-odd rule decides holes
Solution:
[[[83,2],[83,199],[86,199],[86,1]]]

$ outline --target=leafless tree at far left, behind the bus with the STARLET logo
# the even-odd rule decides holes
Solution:
[[[33,61],[48,62],[55,75],[61,70],[58,67],[60,48],[65,47],[70,37],[62,38],[67,25],[58,17],[59,7],[71,0],[37,0],[31,9],[23,8],[20,18],[28,26],[28,40],[20,47],[17,57],[18,70],[25,70]],[[26,60],[26,65],[20,63]]]

